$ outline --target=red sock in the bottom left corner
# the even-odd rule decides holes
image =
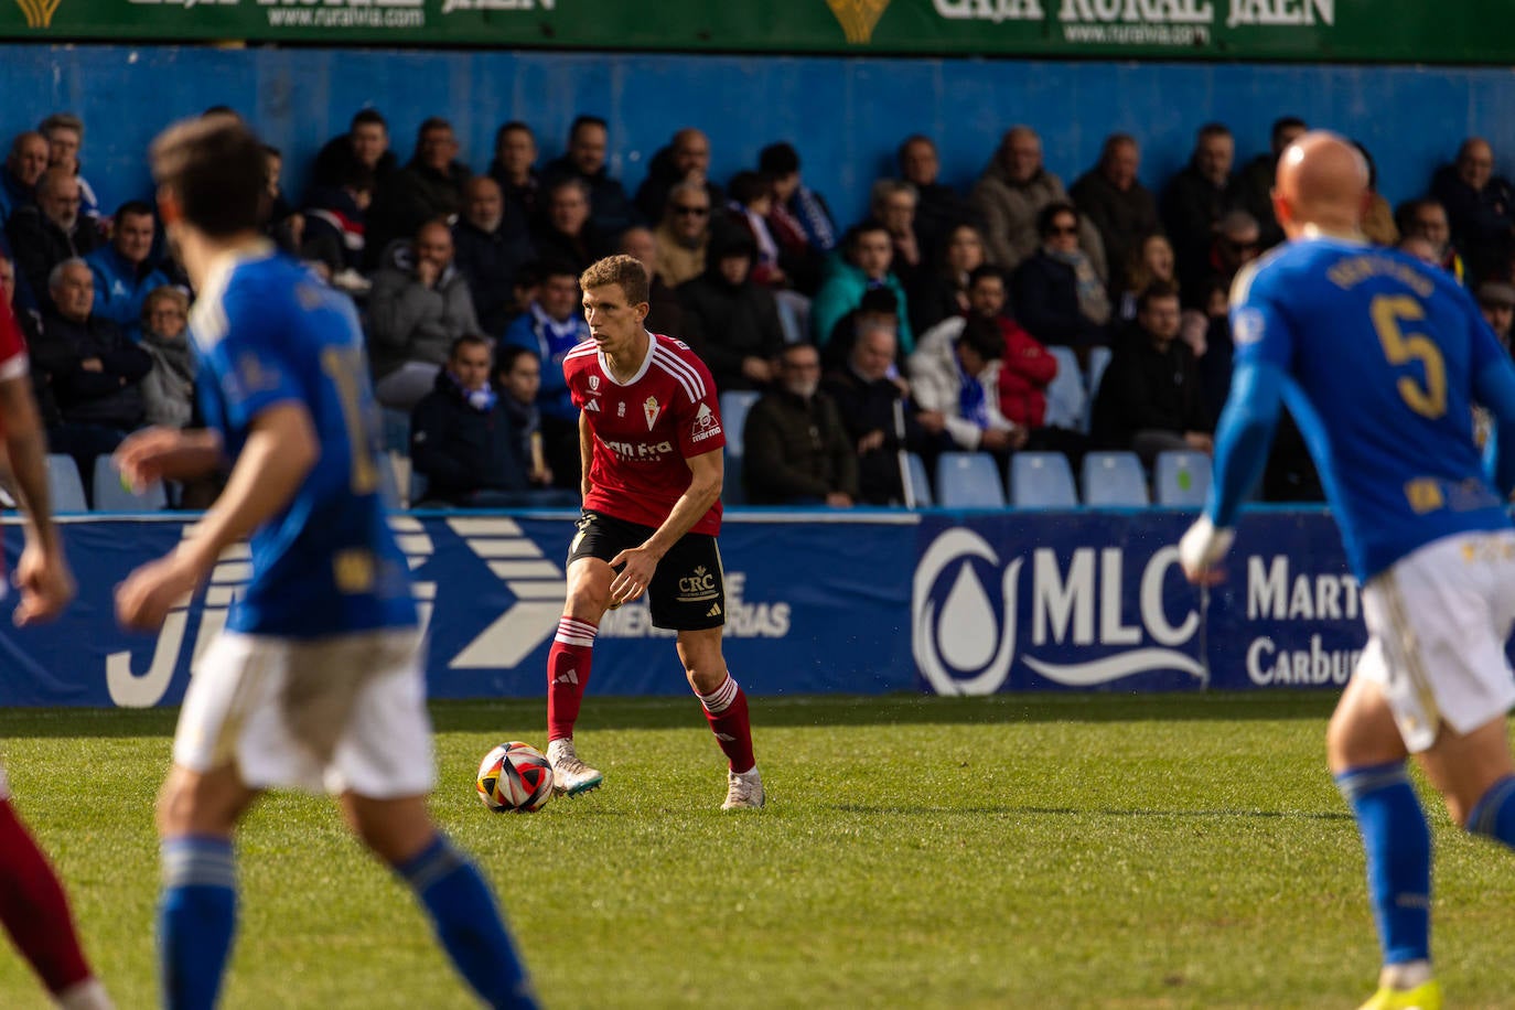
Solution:
[[[64,887],[9,800],[0,800],[0,922],[50,992],[89,978]]]

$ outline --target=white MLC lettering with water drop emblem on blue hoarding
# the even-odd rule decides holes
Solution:
[[[1120,547],[1076,547],[1071,556],[1038,547],[1029,557],[1003,562],[979,533],[942,531],[915,568],[917,668],[942,695],[994,694],[1017,662],[1068,687],[1164,669],[1203,678],[1195,650],[1185,648],[1198,633],[1200,615],[1189,609],[1174,622],[1165,604],[1165,586],[1179,577],[1179,548],[1167,545],[1145,559],[1136,615],[1124,607],[1126,557]],[[1023,592],[1030,594],[1029,615],[1021,613]],[[1017,627],[1023,616],[1029,628]],[[1130,616],[1139,621],[1129,622]],[[1024,630],[1029,642],[1021,641]]]

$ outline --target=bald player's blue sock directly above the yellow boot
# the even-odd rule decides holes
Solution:
[[[1357,816],[1385,965],[1430,959],[1430,828],[1404,763],[1351,768],[1336,787]]]

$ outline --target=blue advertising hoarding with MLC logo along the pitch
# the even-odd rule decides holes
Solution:
[[[1230,580],[1177,566],[1164,510],[735,513],[721,533],[727,660],[753,695],[926,690],[1339,687],[1365,642],[1357,584],[1324,512],[1256,512]],[[435,698],[541,697],[565,591],[568,515],[397,515],[427,624]],[[6,706],[177,704],[247,580],[233,548],[156,637],[114,621],[112,589],[192,535],[192,518],[65,522],[79,601],[5,622]],[[6,527],[14,562],[20,531]],[[606,615],[591,690],[682,695],[673,633],[644,601]]]

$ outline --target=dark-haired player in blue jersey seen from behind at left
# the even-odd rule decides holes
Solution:
[[[433,784],[421,639],[379,500],[376,409],[351,303],[259,236],[264,159],[230,117],[170,127],[152,150],[158,206],[200,292],[191,315],[200,432],[152,429],[118,450],[135,485],[232,460],[195,538],[117,588],[120,621],[155,631],[229,545],[253,574],[200,660],[158,804],[164,1001],[215,1004],[236,922],[232,834],[262,790],[323,787],[411,886],[468,984],[533,1007],[483,877],[426,812]]]

